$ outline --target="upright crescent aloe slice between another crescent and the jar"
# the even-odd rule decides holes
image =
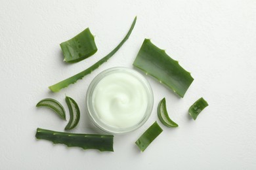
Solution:
[[[68,105],[68,110],[70,110],[70,121],[68,121],[65,130],[74,129],[80,120],[80,110],[77,103],[71,97],[66,96],[66,103]]]

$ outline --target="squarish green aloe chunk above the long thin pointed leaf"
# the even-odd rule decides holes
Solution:
[[[67,63],[76,63],[89,58],[97,52],[95,37],[91,34],[89,27],[72,39],[62,42],[60,48]]]

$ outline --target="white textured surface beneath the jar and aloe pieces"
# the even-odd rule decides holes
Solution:
[[[59,93],[48,86],[91,66],[137,25],[130,39],[91,75]],[[90,27],[98,52],[64,63],[60,42]],[[36,103],[65,94],[81,109],[75,133],[96,133],[85,94],[98,73],[132,67],[144,38],[180,61],[194,82],[180,99],[146,76],[154,109],[140,129],[114,138],[115,152],[66,148],[37,141],[37,127],[63,131],[67,122]],[[256,1],[5,1],[0,6],[0,169],[256,169]],[[179,124],[164,127],[156,107],[163,97]],[[188,108],[204,97],[196,121]],[[69,118],[69,116],[68,116]],[[155,120],[163,133],[141,153],[134,144]]]

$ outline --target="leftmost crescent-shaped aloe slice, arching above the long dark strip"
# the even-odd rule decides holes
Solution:
[[[36,105],[36,107],[48,107],[49,109],[53,110],[62,118],[63,120],[66,120],[66,112],[64,107],[55,99],[46,98],[39,101]]]

